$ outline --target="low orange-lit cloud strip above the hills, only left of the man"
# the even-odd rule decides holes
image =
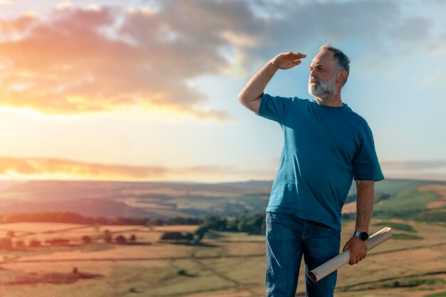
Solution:
[[[96,180],[183,180],[195,182],[272,179],[271,170],[249,166],[130,166],[79,162],[56,158],[0,157],[4,179],[96,179]]]

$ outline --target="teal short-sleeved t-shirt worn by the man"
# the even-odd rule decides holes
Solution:
[[[261,95],[259,115],[281,125],[284,148],[266,212],[291,214],[341,230],[353,178],[382,180],[367,122],[348,105]]]

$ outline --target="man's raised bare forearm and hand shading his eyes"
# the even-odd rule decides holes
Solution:
[[[259,113],[261,103],[261,93],[264,92],[269,80],[279,69],[291,69],[301,63],[301,58],[305,58],[303,53],[288,52],[279,53],[272,58],[259,71],[257,71],[248,83],[240,91],[237,98],[240,103],[254,113]]]

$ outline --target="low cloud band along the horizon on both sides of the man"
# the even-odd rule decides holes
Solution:
[[[42,157],[0,157],[0,179],[178,180],[233,182],[274,179],[277,159],[263,164],[134,166]],[[446,180],[446,160],[381,162],[386,178]],[[265,169],[266,168],[266,169]]]

